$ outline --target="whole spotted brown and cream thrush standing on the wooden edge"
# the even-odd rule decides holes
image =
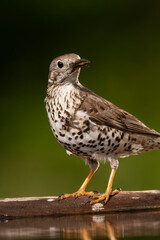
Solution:
[[[88,195],[90,204],[107,203],[120,189],[112,191],[119,158],[160,149],[160,133],[150,129],[135,116],[98,96],[79,82],[80,69],[90,63],[75,53],[53,59],[49,67],[45,98],[51,130],[69,155],[79,156],[90,173],[74,193],[61,199]],[[106,191],[95,194],[85,189],[99,162],[111,167]]]

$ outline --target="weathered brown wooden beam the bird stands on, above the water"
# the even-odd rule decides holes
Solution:
[[[160,190],[120,192],[107,204],[90,204],[92,198],[82,196],[60,200],[58,197],[26,197],[0,199],[0,219],[17,217],[62,216],[72,214],[160,211]]]

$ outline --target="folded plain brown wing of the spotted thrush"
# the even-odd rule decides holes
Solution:
[[[88,89],[82,90],[81,94],[83,95],[83,102],[79,110],[86,111],[90,120],[94,123],[127,132],[160,136],[160,133],[148,128],[133,115],[97,96]]]

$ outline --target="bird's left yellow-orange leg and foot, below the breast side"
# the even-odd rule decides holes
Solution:
[[[81,185],[81,187],[79,188],[79,190],[75,193],[71,193],[71,194],[62,194],[62,196],[60,197],[61,199],[64,198],[69,198],[69,197],[79,197],[79,196],[84,196],[84,195],[94,195],[94,192],[85,192],[85,189],[89,183],[89,181],[91,180],[93,174],[95,173],[95,171],[91,171],[90,174],[88,175],[88,177],[85,179],[84,183]]]

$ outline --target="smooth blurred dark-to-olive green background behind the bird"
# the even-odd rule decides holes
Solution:
[[[59,195],[89,173],[49,127],[48,67],[74,52],[80,81],[160,131],[160,1],[1,1],[0,197]],[[160,189],[160,151],[120,159],[114,187]],[[109,164],[88,190],[104,192]]]

